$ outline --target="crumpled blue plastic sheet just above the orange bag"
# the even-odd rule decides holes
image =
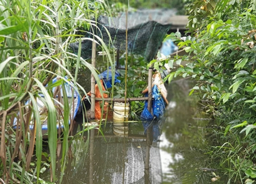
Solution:
[[[112,87],[112,71],[111,71],[111,67],[109,68],[109,70],[104,71],[103,73],[99,74],[99,79],[103,80],[104,83],[104,87],[110,88]],[[117,72],[117,70],[115,70],[115,81],[114,84],[116,83],[120,83],[121,81],[117,79],[117,77],[119,77],[120,74]]]

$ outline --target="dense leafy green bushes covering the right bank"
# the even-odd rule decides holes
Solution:
[[[244,182],[247,177],[253,176],[255,7],[255,1],[250,0],[194,1],[188,6],[190,36],[181,38],[179,33],[167,36],[187,54],[162,61],[170,67],[173,62],[181,65],[182,61],[188,61],[188,64],[170,73],[166,80],[177,76],[197,80],[190,95],[202,95],[206,112],[224,127],[218,133],[222,146],[212,154],[224,155],[220,167],[226,169],[229,182]]]

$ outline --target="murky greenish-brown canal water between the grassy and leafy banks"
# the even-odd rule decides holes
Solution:
[[[156,131],[130,123],[129,135],[113,133],[113,124],[77,139],[62,183],[227,183],[207,147],[214,145],[209,123],[188,97],[191,82],[168,85],[169,105]],[[159,126],[158,126],[159,127]],[[155,133],[155,134],[154,134]],[[221,176],[219,178],[219,176]]]

